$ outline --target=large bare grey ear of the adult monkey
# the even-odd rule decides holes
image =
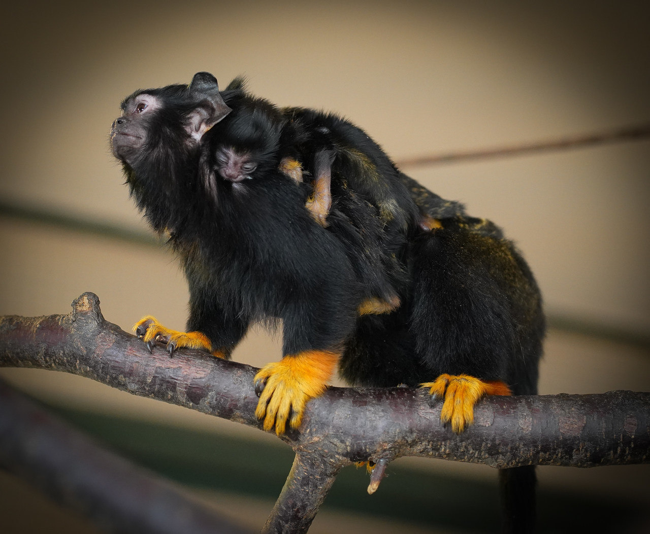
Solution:
[[[209,72],[198,72],[187,88],[187,94],[196,107],[188,115],[190,136],[200,141],[203,134],[232,110],[219,93],[216,78]]]

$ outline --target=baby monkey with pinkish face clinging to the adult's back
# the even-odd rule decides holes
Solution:
[[[404,246],[402,232],[395,226],[406,227],[406,213],[400,208],[406,193],[392,164],[395,185],[391,188],[388,180],[378,176],[374,162],[346,145],[341,127],[352,126],[341,119],[320,114],[323,120],[315,123],[307,110],[298,109],[291,110],[289,118],[289,110],[278,110],[250,95],[242,79],[235,79],[222,94],[233,111],[209,134],[218,175],[242,194],[250,185],[239,184],[244,180],[265,180],[278,170],[292,178],[295,183],[288,186],[302,191],[315,221],[324,227],[331,224],[330,231],[346,249],[366,297],[359,313],[396,308],[400,302],[396,285],[405,273],[395,258]],[[211,191],[215,187],[216,182],[209,184]],[[332,188],[337,193],[333,206]]]

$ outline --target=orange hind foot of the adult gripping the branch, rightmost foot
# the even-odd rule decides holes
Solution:
[[[432,398],[443,397],[440,413],[443,423],[451,422],[452,430],[460,434],[474,422],[474,404],[484,395],[510,395],[510,388],[499,381],[484,382],[468,374],[441,374],[434,382],[425,382]]]

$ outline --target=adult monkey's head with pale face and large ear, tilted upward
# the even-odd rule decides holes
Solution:
[[[197,73],[189,86],[175,84],[136,91],[122,102],[122,115],[110,128],[113,155],[127,175],[149,167],[184,164],[203,134],[226,117],[216,79]]]

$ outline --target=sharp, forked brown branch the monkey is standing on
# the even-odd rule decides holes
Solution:
[[[261,428],[255,418],[257,369],[163,346],[150,354],[134,335],[105,321],[84,293],[68,315],[0,318],[0,366],[72,372],[132,394]],[[474,425],[454,435],[421,389],[331,387],[309,402],[298,430],[281,437],[296,460],[265,532],[305,532],[344,465],[400,456],[491,467],[595,467],[650,463],[650,393],[491,396]],[[376,490],[382,471],[371,485]]]

